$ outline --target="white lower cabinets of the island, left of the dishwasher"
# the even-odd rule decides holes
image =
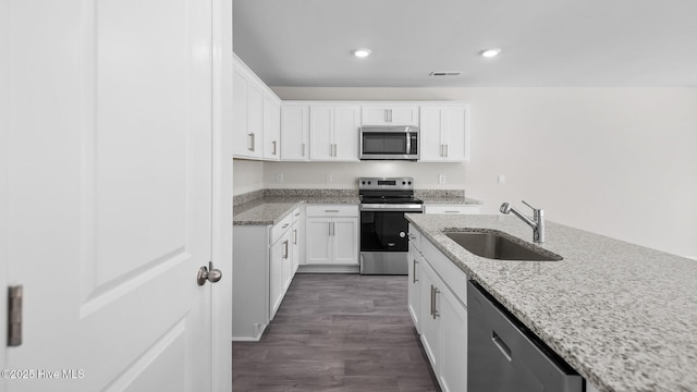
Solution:
[[[411,230],[409,237],[419,236],[424,244],[424,252],[413,244],[409,247],[409,313],[420,333],[424,350],[441,389],[447,392],[465,392],[467,391],[466,298],[462,297],[461,291],[451,290],[447,282],[461,285],[463,282],[466,283],[467,277],[462,271],[456,275],[456,271],[443,265],[450,261],[442,255],[433,255],[432,245],[426,238],[420,238],[418,232]],[[432,264],[429,257],[433,259]],[[445,269],[439,270],[441,266]]]

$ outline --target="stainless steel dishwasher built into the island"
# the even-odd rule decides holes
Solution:
[[[583,391],[583,378],[473,281],[467,333],[468,392]]]

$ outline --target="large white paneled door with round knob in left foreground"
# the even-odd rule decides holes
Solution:
[[[209,391],[211,1],[5,1],[0,389]]]

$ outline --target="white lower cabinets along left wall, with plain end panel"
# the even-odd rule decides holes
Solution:
[[[276,316],[297,270],[301,213],[274,225],[233,228],[233,341],[259,340]]]

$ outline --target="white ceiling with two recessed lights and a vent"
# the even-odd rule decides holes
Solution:
[[[233,26],[270,86],[697,87],[697,0],[234,0]]]

